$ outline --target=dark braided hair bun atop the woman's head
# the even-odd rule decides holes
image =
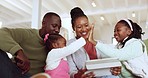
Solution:
[[[84,12],[81,10],[81,8],[79,7],[75,7],[71,10],[70,12],[70,15],[71,15],[71,18],[75,18],[75,17],[78,17],[78,16],[83,16],[85,15]]]

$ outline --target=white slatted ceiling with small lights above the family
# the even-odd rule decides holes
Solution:
[[[91,3],[94,1],[96,7]],[[122,18],[148,26],[148,0],[42,0],[41,18],[48,11],[69,18],[70,10],[79,6],[100,27],[113,26]],[[0,0],[0,21],[3,26],[30,27],[33,0]],[[132,17],[135,13],[135,17]],[[104,17],[104,21],[100,17]],[[147,22],[147,25],[146,25]]]

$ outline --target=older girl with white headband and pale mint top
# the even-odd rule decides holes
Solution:
[[[110,57],[118,58],[121,60],[121,63],[129,62],[130,60],[138,58],[146,51],[146,49],[144,49],[146,46],[141,41],[141,27],[129,19],[120,20],[116,24],[114,29],[114,37],[118,44],[114,48],[108,44],[95,41],[92,34],[93,33],[91,31],[89,41],[96,45],[96,47],[101,50],[102,53]],[[136,64],[138,66],[138,62],[136,62]],[[135,75],[133,75],[133,72],[131,73],[129,70],[127,70],[124,65],[122,66],[120,76],[121,78],[137,78]]]

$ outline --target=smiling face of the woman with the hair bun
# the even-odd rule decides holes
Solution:
[[[90,26],[86,17],[78,17],[74,22],[74,31],[76,32],[76,38],[83,37],[88,38]]]

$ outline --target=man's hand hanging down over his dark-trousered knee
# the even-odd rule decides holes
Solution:
[[[30,61],[22,50],[17,51],[15,61],[17,66],[23,71],[22,74],[30,70]]]

